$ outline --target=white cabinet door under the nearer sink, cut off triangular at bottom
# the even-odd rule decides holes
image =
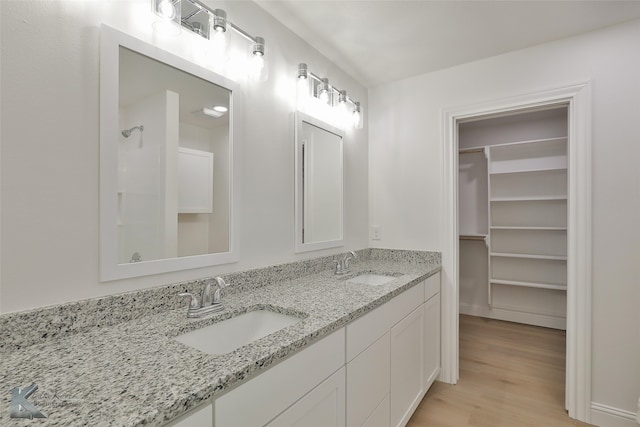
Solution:
[[[269,427],[344,427],[345,370],[335,374],[294,403]]]

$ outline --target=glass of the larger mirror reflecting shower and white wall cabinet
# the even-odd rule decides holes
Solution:
[[[123,47],[120,70],[122,136],[145,144],[119,145],[118,262],[227,252],[229,120],[206,112],[229,91]]]

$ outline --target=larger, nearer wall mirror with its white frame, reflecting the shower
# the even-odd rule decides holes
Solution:
[[[237,261],[237,84],[105,25],[100,44],[100,279]]]

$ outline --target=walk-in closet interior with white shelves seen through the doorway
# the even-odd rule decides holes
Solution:
[[[567,106],[459,123],[460,313],[566,329]]]

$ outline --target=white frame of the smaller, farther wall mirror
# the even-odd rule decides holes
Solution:
[[[303,228],[304,228],[304,193],[303,193],[303,179],[302,179],[302,140],[300,135],[302,135],[302,124],[309,123],[318,128],[324,129],[327,132],[333,133],[341,138],[340,145],[340,162],[341,162],[341,171],[342,171],[342,192],[341,192],[341,215],[342,215],[342,229],[340,230],[340,239],[337,240],[325,240],[320,242],[310,242],[304,243],[303,241]],[[305,114],[301,111],[296,111],[295,113],[295,132],[294,132],[294,141],[295,141],[295,252],[310,252],[317,251],[320,249],[329,249],[329,248],[337,248],[340,246],[344,246],[344,234],[345,234],[345,226],[344,226],[344,139],[345,133],[341,129],[337,127],[331,126],[322,120],[319,120],[313,116]]]

